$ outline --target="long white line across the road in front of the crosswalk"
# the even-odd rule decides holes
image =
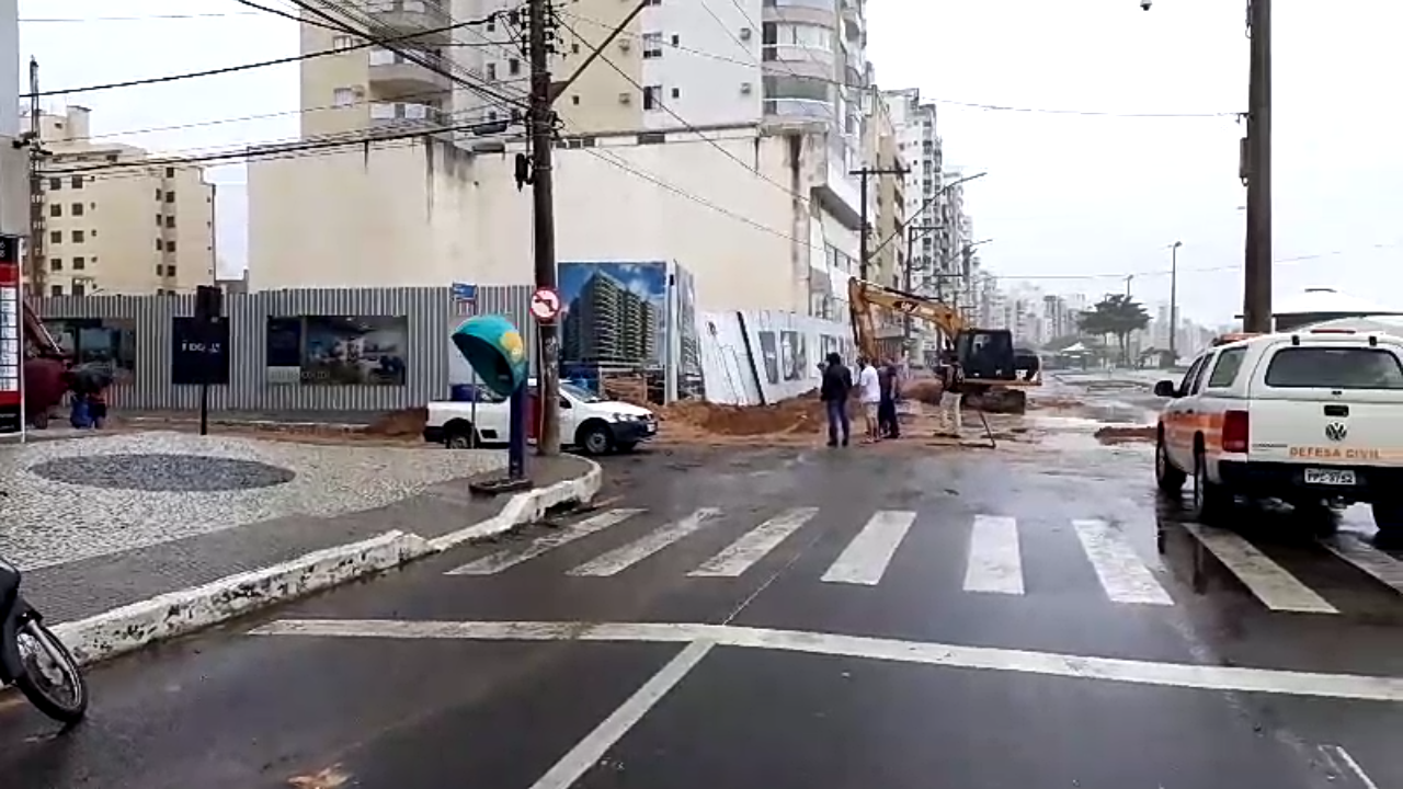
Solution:
[[[772,630],[735,625],[647,622],[401,622],[393,619],[282,619],[253,630],[260,636],[362,639],[459,639],[480,642],[690,643],[826,654],[1044,677],[1099,679],[1164,688],[1275,694],[1330,699],[1403,702],[1403,677],[1319,674],[1188,663],[1155,663],[1013,650]]]

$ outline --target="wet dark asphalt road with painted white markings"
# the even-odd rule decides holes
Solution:
[[[1244,510],[1223,562],[1148,448],[1058,445],[612,459],[593,512],[97,668],[66,736],[0,701],[0,785],[1403,786],[1399,555]]]

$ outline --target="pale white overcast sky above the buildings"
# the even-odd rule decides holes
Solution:
[[[246,14],[231,0],[20,0],[20,13],[27,20],[233,14],[22,22],[21,51],[39,58],[45,88],[213,69],[297,49],[293,22]],[[915,86],[946,101],[946,161],[989,171],[969,185],[965,205],[975,234],[993,239],[981,247],[991,271],[1092,296],[1124,291],[1124,277],[1138,274],[1134,293],[1153,303],[1169,296],[1167,247],[1181,240],[1184,314],[1218,323],[1240,312],[1242,128],[1232,117],[1026,110],[1244,110],[1242,0],[1155,0],[1150,11],[1139,0],[868,0],[868,14],[881,84]],[[1388,77],[1403,73],[1403,49],[1393,46],[1403,1],[1275,0],[1274,17],[1275,257],[1284,261],[1277,298],[1334,286],[1403,307],[1403,110],[1396,80]],[[94,133],[161,150],[297,133],[295,66],[70,101],[93,108]],[[271,117],[168,129],[250,115]],[[243,173],[226,167],[215,180],[237,183]],[[236,188],[226,195],[220,250],[239,265],[241,195]]]

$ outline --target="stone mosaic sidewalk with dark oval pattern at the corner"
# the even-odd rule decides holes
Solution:
[[[595,468],[532,460],[537,489]],[[0,446],[0,556],[46,618],[74,621],[390,531],[432,541],[480,524],[511,497],[476,497],[469,480],[504,462],[177,432]]]

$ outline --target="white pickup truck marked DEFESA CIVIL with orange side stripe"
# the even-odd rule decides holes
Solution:
[[[1159,417],[1155,477],[1191,477],[1200,519],[1235,496],[1298,508],[1368,503],[1403,536],[1403,338],[1347,329],[1264,334],[1204,351]]]

